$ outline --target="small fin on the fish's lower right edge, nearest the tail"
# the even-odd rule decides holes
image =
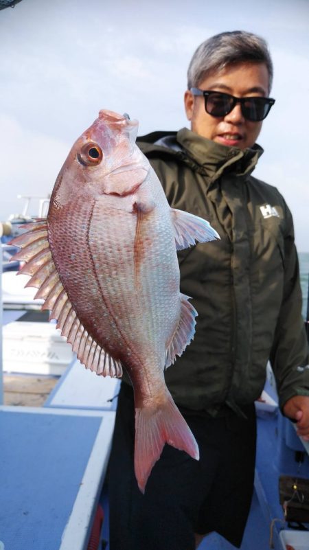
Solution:
[[[195,317],[198,314],[196,309],[189,301],[189,297],[181,294],[181,314],[179,319],[179,325],[177,326],[172,339],[168,342],[165,352],[165,367],[168,368],[174,360],[176,355],[181,356],[185,348],[192,340],[195,332]]]

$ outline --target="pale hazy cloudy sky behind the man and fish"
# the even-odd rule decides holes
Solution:
[[[0,11],[0,220],[45,197],[101,108],[139,120],[139,135],[189,127],[186,72],[209,36],[266,38],[276,99],[254,175],[293,212],[309,251],[309,0],[22,0]],[[30,214],[38,213],[33,200]]]

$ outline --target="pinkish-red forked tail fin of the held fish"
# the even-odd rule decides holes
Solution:
[[[168,392],[163,405],[135,410],[135,476],[142,493],[165,443],[198,460],[198,444]]]

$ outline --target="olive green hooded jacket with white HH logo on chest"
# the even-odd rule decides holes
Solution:
[[[165,372],[175,402],[213,416],[238,411],[260,397],[268,358],[281,407],[309,396],[293,220],[277,189],[251,176],[262,148],[221,146],[187,128],[137,141],[170,205],[220,235],[179,253],[181,292],[198,317],[194,340]]]

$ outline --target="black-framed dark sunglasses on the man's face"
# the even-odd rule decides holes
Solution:
[[[264,120],[275,103],[272,98],[235,98],[229,93],[200,90],[191,88],[193,95],[203,95],[205,98],[205,110],[213,117],[225,117],[233,111],[236,104],[240,103],[242,115],[252,122]]]

